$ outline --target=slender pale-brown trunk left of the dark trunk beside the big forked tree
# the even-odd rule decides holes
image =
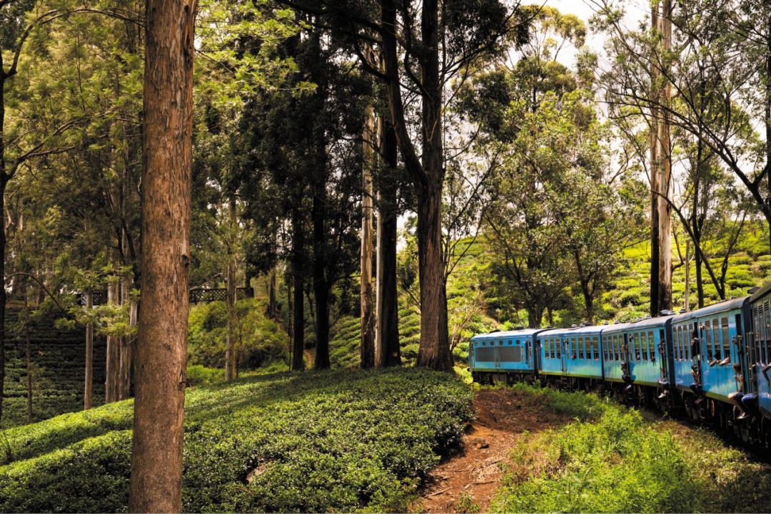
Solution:
[[[375,159],[375,109],[367,107],[364,132],[362,134],[362,249],[360,253],[361,278],[359,279],[359,302],[361,313],[361,366],[375,365],[375,319],[372,309],[372,174],[377,167]]]

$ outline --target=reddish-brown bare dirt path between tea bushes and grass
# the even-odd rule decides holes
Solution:
[[[502,478],[501,465],[524,431],[540,432],[570,422],[511,389],[482,389],[473,400],[476,421],[460,453],[433,469],[423,491],[424,512],[456,512],[467,493],[485,512]]]

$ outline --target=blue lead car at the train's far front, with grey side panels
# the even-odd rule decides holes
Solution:
[[[513,372],[535,375],[535,336],[543,330],[522,329],[475,335],[469,345],[473,372]]]

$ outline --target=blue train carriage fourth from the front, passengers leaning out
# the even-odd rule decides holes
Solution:
[[[709,305],[672,319],[675,385],[682,392],[729,402],[739,391],[749,296]],[[734,365],[737,364],[735,367]]]

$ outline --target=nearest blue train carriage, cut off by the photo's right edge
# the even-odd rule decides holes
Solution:
[[[771,284],[763,286],[749,299],[748,318],[751,322],[746,332],[746,398],[763,417],[771,419]]]

